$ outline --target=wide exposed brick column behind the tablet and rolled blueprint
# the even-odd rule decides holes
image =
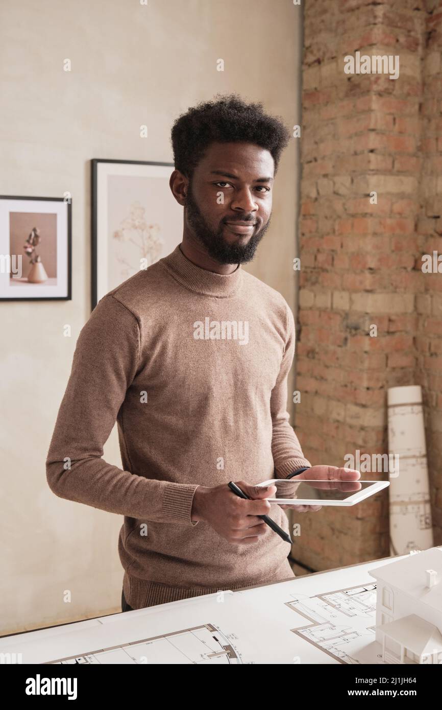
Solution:
[[[436,544],[442,274],[426,278],[421,253],[442,252],[440,5],[306,0],[295,361],[295,429],[312,464],[343,466],[356,449],[387,453],[387,388],[424,386]],[[344,57],[357,50],[399,55],[399,78],[345,74]],[[314,569],[389,555],[387,493],[293,520],[302,534],[292,555]]]

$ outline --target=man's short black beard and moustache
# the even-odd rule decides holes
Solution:
[[[221,222],[219,229],[216,231],[211,229],[194,200],[190,182],[186,197],[186,219],[197,241],[204,245],[208,255],[220,264],[241,264],[252,261],[258,244],[263,239],[270,224],[269,217],[267,223],[250,237],[247,244],[229,244],[223,237],[225,222]],[[253,220],[250,220],[250,222],[253,222]]]

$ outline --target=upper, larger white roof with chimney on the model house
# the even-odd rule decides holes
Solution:
[[[433,575],[435,584],[430,588],[426,586],[429,578],[427,570],[436,572]],[[368,572],[375,579],[442,611],[442,547],[430,547],[429,550],[407,555],[396,562],[369,569]]]

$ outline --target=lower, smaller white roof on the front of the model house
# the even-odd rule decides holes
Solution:
[[[382,623],[377,628],[418,656],[442,651],[442,634],[438,628],[416,614]]]

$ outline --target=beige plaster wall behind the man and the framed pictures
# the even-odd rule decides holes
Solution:
[[[72,193],[72,300],[0,302],[2,634],[120,611],[123,518],[56,498],[45,479],[90,313],[89,160],[172,160],[175,117],[216,92],[262,100],[288,126],[299,123],[301,13],[291,0],[0,6],[0,194]],[[71,72],[63,71],[66,58]],[[219,58],[224,72],[216,71]],[[140,138],[140,124],[149,138]],[[296,143],[277,175],[272,228],[247,267],[293,310]],[[63,336],[65,324],[72,337]],[[116,427],[104,459],[121,465]]]

